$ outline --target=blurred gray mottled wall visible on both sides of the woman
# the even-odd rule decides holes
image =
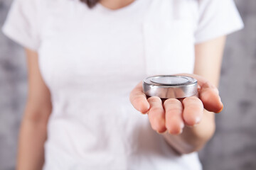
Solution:
[[[10,0],[0,0],[0,26]],[[217,130],[200,153],[206,170],[256,169],[256,0],[237,0],[245,29],[228,36]],[[0,170],[14,169],[18,128],[26,101],[23,49],[0,33]]]

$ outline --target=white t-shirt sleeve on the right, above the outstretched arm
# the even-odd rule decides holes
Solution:
[[[233,0],[199,0],[195,43],[228,35],[242,29],[243,26]]]

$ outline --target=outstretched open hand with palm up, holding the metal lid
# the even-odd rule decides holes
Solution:
[[[198,80],[198,96],[166,100],[156,96],[146,98],[142,82],[135,86],[129,96],[137,111],[149,115],[151,128],[156,132],[161,133],[167,130],[172,135],[181,134],[185,125],[194,126],[201,122],[203,108],[214,113],[220,113],[223,109],[218,89],[213,84],[196,74],[179,75]]]

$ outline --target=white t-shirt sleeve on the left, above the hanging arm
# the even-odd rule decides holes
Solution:
[[[36,0],[14,0],[2,27],[7,37],[34,51],[40,45],[37,7]]]

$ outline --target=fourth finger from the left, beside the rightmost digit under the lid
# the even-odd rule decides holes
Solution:
[[[201,121],[203,116],[203,103],[202,101],[191,96],[184,98],[183,103],[183,120],[186,125],[193,126]]]

